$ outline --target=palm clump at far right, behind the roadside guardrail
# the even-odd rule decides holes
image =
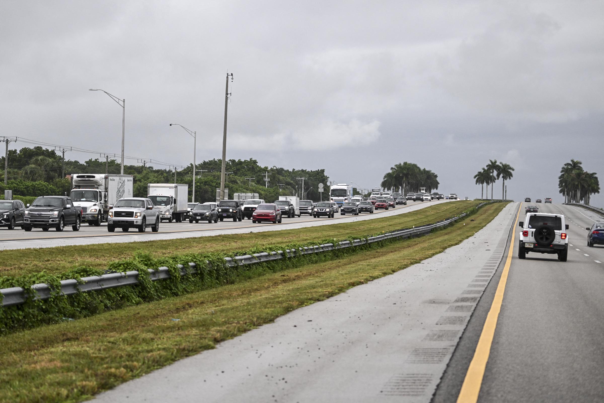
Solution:
[[[558,187],[564,195],[564,202],[583,202],[590,204],[591,195],[600,193],[600,181],[596,172],[587,172],[581,166],[582,162],[570,160],[560,170]]]

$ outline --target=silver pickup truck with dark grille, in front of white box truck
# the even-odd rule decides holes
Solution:
[[[145,232],[147,225],[150,224],[151,230],[157,232],[160,221],[159,208],[153,205],[151,199],[119,199],[115,205],[109,206],[107,230],[114,232],[115,227],[119,227],[124,232],[130,228],[137,228],[138,232]]]

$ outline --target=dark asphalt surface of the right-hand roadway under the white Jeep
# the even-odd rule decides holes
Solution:
[[[516,236],[478,402],[604,402],[604,246],[587,247],[585,230],[604,217],[570,205],[538,206],[565,215],[568,261],[537,253],[519,260]],[[434,403],[457,400],[497,282],[481,298]]]

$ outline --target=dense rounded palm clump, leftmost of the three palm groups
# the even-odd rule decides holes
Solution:
[[[419,192],[420,187],[425,187],[426,192],[439,189],[439,175],[429,169],[420,168],[417,164],[404,162],[390,168],[384,175],[380,184],[382,189],[392,192],[401,192],[403,195],[410,192]]]

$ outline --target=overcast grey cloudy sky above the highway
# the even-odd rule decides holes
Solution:
[[[227,158],[359,187],[411,161],[472,198],[496,159],[510,198],[562,201],[570,158],[604,184],[602,21],[601,0],[5,0],[0,135],[119,153],[100,88],[126,155],[190,163],[180,123],[220,158],[228,71]]]

